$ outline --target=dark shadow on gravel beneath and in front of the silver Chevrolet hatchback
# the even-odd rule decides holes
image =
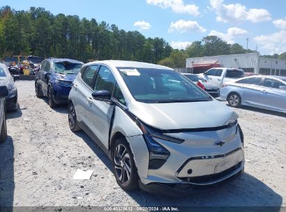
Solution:
[[[111,160],[85,132],[75,134],[88,144],[95,155],[112,171]],[[114,179],[116,181],[116,179]],[[219,185],[212,190],[196,190],[185,197],[156,195],[143,190],[127,192],[140,206],[274,206],[270,211],[279,211],[283,198],[265,183],[251,174],[242,174],[239,178]],[[214,208],[210,209],[214,211]],[[249,208],[253,211],[253,208]],[[220,210],[219,210],[220,211]]]

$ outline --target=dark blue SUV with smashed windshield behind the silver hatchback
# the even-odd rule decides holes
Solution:
[[[50,107],[67,103],[72,81],[82,65],[81,61],[73,59],[49,58],[42,61],[40,70],[35,73],[36,96],[47,96]]]

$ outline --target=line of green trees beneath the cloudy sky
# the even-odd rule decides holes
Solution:
[[[97,22],[94,18],[53,15],[45,8],[35,7],[26,11],[9,6],[0,9],[0,58],[33,54],[84,62],[122,59],[175,68],[185,67],[188,57],[246,52],[254,51],[238,43],[230,45],[216,36],[206,36],[186,50],[176,50],[163,38],[145,38],[139,31],[118,29],[115,24]]]

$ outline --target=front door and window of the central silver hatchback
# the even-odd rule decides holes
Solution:
[[[106,66],[101,66],[98,75],[95,79],[95,91],[106,90],[113,93],[116,79],[113,73]],[[90,95],[91,98],[91,95]],[[90,130],[100,139],[106,149],[109,146],[109,128],[111,117],[113,114],[114,105],[100,100],[90,100],[88,104],[90,109]]]

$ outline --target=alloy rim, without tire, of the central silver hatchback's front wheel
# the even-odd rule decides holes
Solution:
[[[122,144],[114,150],[114,165],[120,183],[128,183],[132,172],[132,162],[126,147]]]

